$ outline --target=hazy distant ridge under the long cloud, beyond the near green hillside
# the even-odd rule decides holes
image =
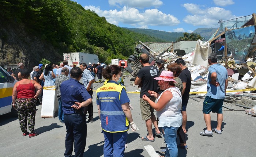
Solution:
[[[125,28],[137,33],[150,35],[155,38],[159,38],[165,40],[166,42],[175,42],[176,38],[183,37],[182,32],[165,32],[165,31],[158,31],[158,30],[151,30],[151,29],[144,29],[144,28]]]

